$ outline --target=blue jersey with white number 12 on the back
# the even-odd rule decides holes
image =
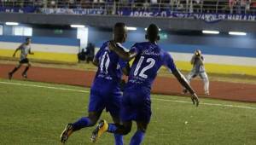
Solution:
[[[172,56],[160,49],[157,44],[149,42],[134,44],[130,51],[136,52],[137,56],[131,66],[127,88],[135,86],[150,90],[161,66],[166,66],[171,71],[176,69]]]

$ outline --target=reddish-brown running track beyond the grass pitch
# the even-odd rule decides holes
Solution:
[[[0,64],[0,78],[8,78],[7,73],[14,65]],[[15,79],[22,79],[24,67],[15,73]],[[28,79],[39,82],[72,84],[90,87],[94,72],[80,70],[32,67],[28,72]],[[0,85],[1,86],[1,85]],[[197,94],[203,97],[218,98],[230,101],[256,102],[256,84],[239,84],[212,81],[210,82],[210,96],[203,95],[203,84],[199,80],[192,81]],[[182,87],[175,78],[158,77],[154,81],[152,92],[165,95],[181,95]]]

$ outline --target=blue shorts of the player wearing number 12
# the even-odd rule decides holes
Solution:
[[[150,90],[125,89],[121,106],[121,120],[149,123],[151,118]]]

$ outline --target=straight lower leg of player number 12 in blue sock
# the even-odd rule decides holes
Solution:
[[[131,137],[130,145],[140,145],[143,142],[148,122],[137,121],[137,131]]]

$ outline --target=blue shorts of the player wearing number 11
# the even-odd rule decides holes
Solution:
[[[102,112],[106,108],[113,117],[119,117],[122,99],[121,91],[102,92],[90,90],[89,112]]]

